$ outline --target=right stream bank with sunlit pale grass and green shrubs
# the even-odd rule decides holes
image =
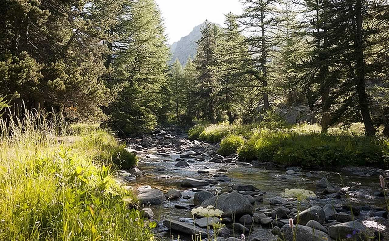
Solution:
[[[237,152],[240,160],[273,161],[288,166],[329,167],[344,165],[389,166],[389,140],[365,137],[356,123],[347,129],[330,128],[320,134],[317,125],[298,125],[269,130],[259,126],[196,126],[190,138],[221,141],[219,153]]]

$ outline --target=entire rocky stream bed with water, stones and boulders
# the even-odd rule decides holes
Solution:
[[[388,213],[378,177],[389,170],[301,170],[274,163],[244,163],[220,156],[217,144],[190,141],[179,128],[128,139],[138,168],[119,172],[137,190],[144,215],[163,240],[207,240],[207,225],[222,222],[218,240],[366,240],[389,238]],[[286,189],[315,193],[298,201]],[[198,206],[216,206],[220,218],[195,217]],[[298,217],[297,217],[298,214]],[[290,218],[294,219],[291,227]],[[297,220],[298,219],[298,220]],[[298,225],[296,225],[298,224]],[[212,230],[212,228],[210,228]],[[244,234],[242,236],[242,234]],[[198,240],[198,237],[197,239]]]

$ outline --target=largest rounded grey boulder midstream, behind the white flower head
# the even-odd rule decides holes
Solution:
[[[245,214],[252,215],[254,212],[254,207],[251,205],[250,201],[236,191],[207,199],[203,201],[201,206],[204,208],[207,206],[214,206],[215,208],[222,210],[222,217],[240,217]]]

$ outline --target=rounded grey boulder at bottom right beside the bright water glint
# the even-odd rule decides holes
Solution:
[[[373,231],[358,221],[332,225],[328,229],[328,234],[336,240],[346,239],[347,235],[351,235],[352,240],[365,240],[365,238],[374,237]]]

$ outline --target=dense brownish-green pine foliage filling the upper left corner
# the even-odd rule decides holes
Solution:
[[[101,116],[100,106],[112,98],[99,78],[105,71],[100,42],[114,3],[2,1],[0,93],[12,110],[24,105],[53,107],[69,118]]]

